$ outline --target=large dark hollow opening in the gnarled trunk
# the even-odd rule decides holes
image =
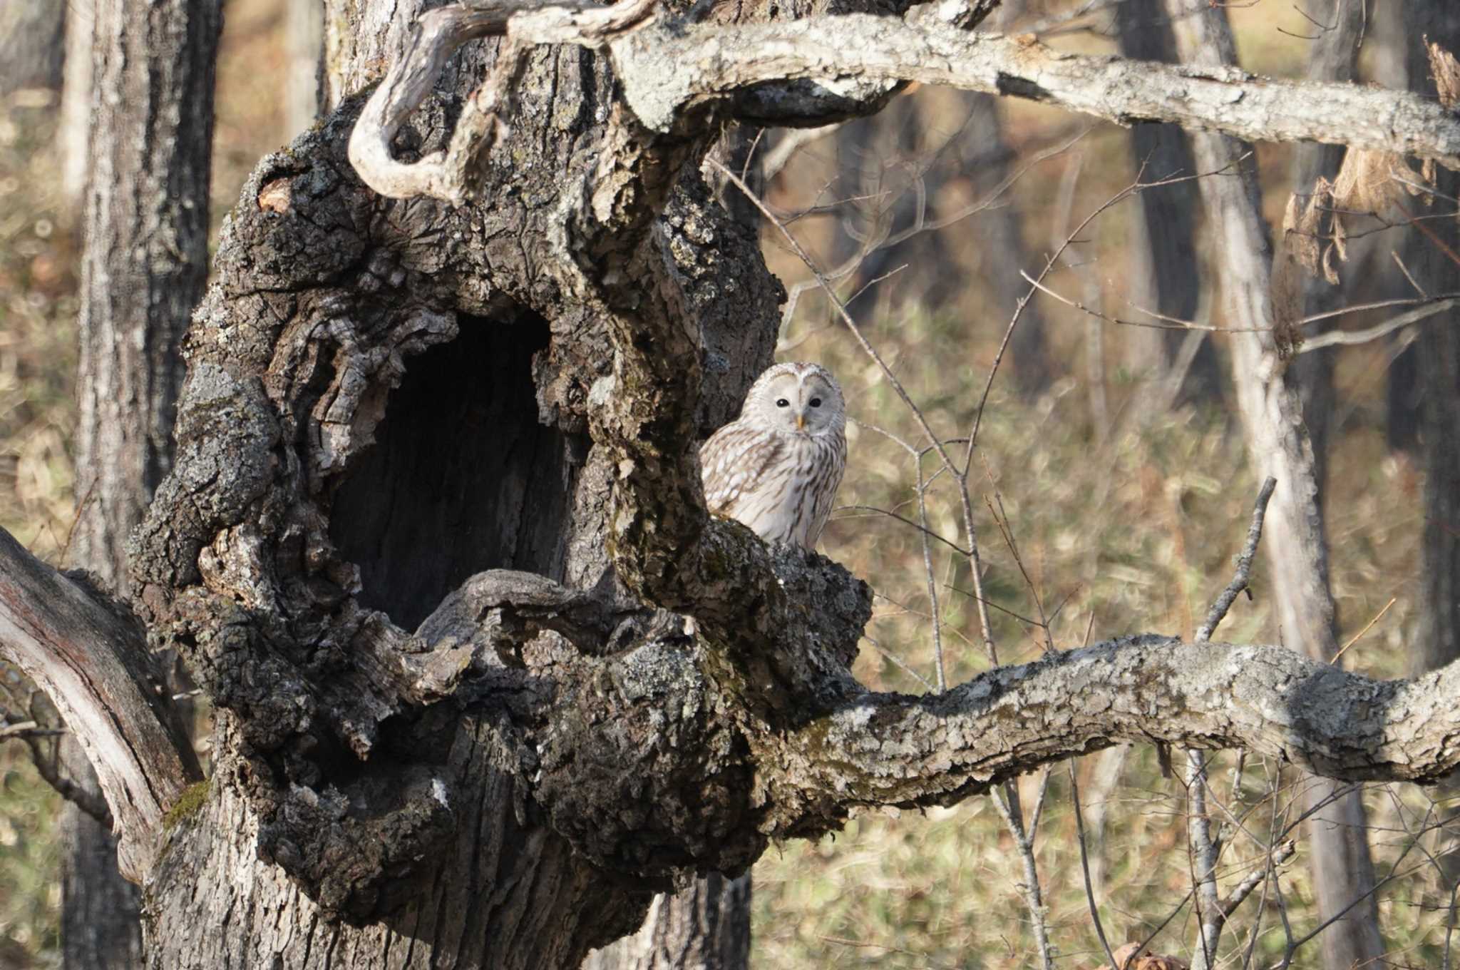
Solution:
[[[565,435],[537,422],[540,318],[461,317],[461,335],[406,362],[375,444],[334,495],[330,538],[361,568],[359,600],[415,630],[469,576],[562,578]]]

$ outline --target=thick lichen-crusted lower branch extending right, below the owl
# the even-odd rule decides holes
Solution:
[[[1460,764],[1457,691],[1460,665],[1374,681],[1291,649],[1123,637],[946,694],[866,694],[791,736],[785,757],[844,805],[946,805],[1123,741],[1245,748],[1350,782],[1431,782]]]

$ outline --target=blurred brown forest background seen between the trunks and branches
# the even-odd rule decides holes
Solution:
[[[291,80],[293,3],[308,12],[308,0],[225,3],[215,232],[257,159],[307,123],[301,86]],[[1169,25],[1152,0],[1004,6],[986,28],[1085,53],[1172,58]],[[1288,0],[1226,6],[1241,66],[1263,75],[1304,76],[1333,29]],[[1359,77],[1403,88],[1403,4],[1377,6]],[[70,457],[79,240],[57,142],[60,104],[44,86],[10,91],[0,102],[0,524],[51,562],[64,560],[76,503],[85,501]],[[832,130],[746,133],[749,181],[939,434],[967,434],[999,361],[972,491],[1000,662],[1040,656],[1041,614],[1056,649],[1126,631],[1190,637],[1231,578],[1259,482],[1235,416],[1226,337],[1161,326],[1161,316],[1225,324],[1213,234],[1191,181],[1121,196],[1137,178],[1191,175],[1183,139],[1158,126],[1130,131],[1026,101],[926,88]],[[1257,146],[1275,235],[1289,196],[1311,190],[1295,183],[1298,150]],[[1445,199],[1409,205],[1428,216],[1454,210]],[[1350,226],[1340,283],[1324,285],[1317,298],[1324,307],[1412,298],[1415,285],[1431,294],[1460,289],[1454,266],[1448,282],[1406,280],[1405,267],[1416,260],[1405,254],[1431,242],[1406,218],[1388,216]],[[926,546],[908,524],[920,519],[918,482],[936,469],[924,454],[920,470],[908,448],[924,446],[917,421],[780,229],[766,224],[762,238],[790,294],[778,356],[831,367],[857,421],[844,508],[822,542],[877,592],[857,672],[879,688],[933,690],[936,615],[943,678],[967,679],[988,666],[967,565],[937,541]],[[1038,276],[1057,251],[1042,285],[1063,299],[1035,294],[1000,359],[1006,327],[1031,294],[1021,273]],[[1387,307],[1310,324],[1310,346],[1324,330],[1358,332],[1394,314]],[[1374,676],[1402,676],[1416,663],[1409,644],[1421,631],[1426,529],[1416,355],[1453,320],[1440,314],[1375,339],[1336,339],[1294,364],[1318,374],[1310,424],[1327,456],[1332,586],[1340,643],[1349,644],[1342,662]],[[926,488],[927,529],[956,538],[958,517],[955,491],[934,479]],[[1263,573],[1259,565],[1256,599],[1234,608],[1221,638],[1279,641]],[[0,666],[0,707],[20,717],[32,703]],[[44,748],[54,739],[31,742]],[[1188,954],[1181,773],[1164,777],[1158,754],[1134,746],[1080,760],[1075,777],[1091,890],[1111,944],[1164,926],[1155,950]],[[1221,878],[1232,885],[1261,872],[1269,849],[1296,836],[1302,779],[1231,752],[1213,761],[1212,777],[1231,820]],[[1034,859],[1058,966],[1101,964],[1070,777],[1061,765],[1023,779],[1021,789],[1026,809],[1042,806]],[[1386,879],[1377,897],[1390,966],[1448,966],[1457,866],[1442,822],[1451,801],[1444,789],[1390,784],[1369,786],[1364,798],[1375,869]],[[60,966],[58,806],[28,744],[0,733],[0,967]],[[1251,933],[1250,952],[1261,966],[1282,955],[1285,922],[1295,936],[1314,929],[1305,855],[1299,840],[1276,869],[1280,897],[1263,893],[1234,916],[1232,936],[1247,948]],[[837,839],[781,846],[755,868],[753,966],[1034,966],[1025,881],[991,799],[921,817],[860,817]],[[1241,966],[1240,957],[1231,966]],[[1299,950],[1294,963],[1318,966],[1317,947]]]

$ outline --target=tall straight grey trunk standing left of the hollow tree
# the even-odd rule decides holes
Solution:
[[[207,275],[213,61],[219,0],[99,0],[80,291],[77,519],[72,560],[126,596],[126,541],[171,467],[182,375],[178,342]],[[101,796],[74,739],[63,763]],[[111,831],[67,805],[61,818],[67,967],[142,963],[137,890]]]

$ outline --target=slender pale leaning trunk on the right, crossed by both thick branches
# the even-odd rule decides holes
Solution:
[[[1177,25],[1177,47],[1197,64],[1232,64],[1235,51],[1226,12],[1204,0],[1165,0]],[[1302,410],[1291,377],[1280,361],[1270,292],[1272,245],[1261,218],[1260,194],[1250,150],[1219,134],[1191,137],[1202,171],[1240,171],[1240,178],[1203,178],[1202,197],[1207,225],[1219,232],[1218,263],[1234,327],[1232,380],[1247,429],[1248,454],[1259,478],[1272,475],[1278,491],[1267,511],[1263,548],[1275,577],[1283,643],[1310,657],[1332,660],[1337,653],[1334,605],[1329,590],[1327,539],[1318,510],[1318,484],[1313,446],[1302,425]],[[1280,337],[1280,335],[1276,335]],[[1280,577],[1280,578],[1276,578]],[[1305,787],[1308,806],[1333,796],[1339,786],[1314,780]],[[1374,900],[1374,865],[1367,843],[1364,803],[1358,792],[1337,798],[1310,817],[1313,882],[1320,920],[1337,917],[1324,931],[1323,966],[1369,966],[1384,951]],[[1355,900],[1361,900],[1353,904]],[[1348,913],[1339,917],[1339,913]]]

